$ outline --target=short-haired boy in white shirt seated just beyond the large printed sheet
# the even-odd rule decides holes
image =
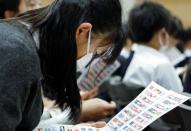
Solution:
[[[170,13],[164,7],[145,2],[132,9],[128,21],[129,36],[136,43],[135,54],[123,83],[130,87],[146,87],[151,81],[177,92],[183,90],[169,60],[159,50],[168,41]]]

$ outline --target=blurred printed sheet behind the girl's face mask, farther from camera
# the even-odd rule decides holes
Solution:
[[[115,61],[111,65],[106,65],[102,59],[95,60],[78,78],[78,87],[82,91],[91,90],[99,87],[105,82],[118,68],[120,63]]]

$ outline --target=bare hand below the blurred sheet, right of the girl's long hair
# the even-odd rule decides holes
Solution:
[[[116,103],[94,98],[82,102],[81,121],[96,121],[115,112]]]

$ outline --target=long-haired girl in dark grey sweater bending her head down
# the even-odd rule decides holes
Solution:
[[[115,42],[121,6],[119,0],[55,0],[0,20],[0,30],[0,131],[31,131],[37,126],[43,110],[40,82],[44,96],[61,111],[69,109],[66,119],[77,122],[78,60],[92,59],[108,48],[113,50],[107,63],[116,59],[122,48]]]

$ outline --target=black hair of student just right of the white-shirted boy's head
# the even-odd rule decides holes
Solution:
[[[170,19],[170,26],[167,31],[169,35],[182,40],[182,35],[184,32],[182,21],[178,17],[172,16]]]

